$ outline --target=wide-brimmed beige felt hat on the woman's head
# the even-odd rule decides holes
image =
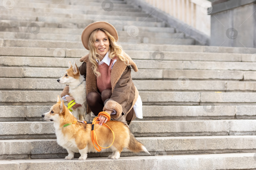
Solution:
[[[103,29],[107,30],[115,38],[116,41],[118,40],[117,31],[113,25],[111,25],[105,21],[97,21],[97,22],[89,24],[87,27],[85,27],[85,29],[82,32],[81,38],[82,38],[82,44],[83,44],[84,48],[89,50],[89,47],[88,47],[89,37],[90,37],[91,33],[98,28],[103,28]]]

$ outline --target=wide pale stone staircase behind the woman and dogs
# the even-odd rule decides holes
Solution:
[[[105,10],[104,3],[0,6],[0,169],[256,168],[256,49],[196,46],[125,1],[111,1]],[[56,79],[68,61],[80,65],[88,54],[82,30],[98,20],[115,26],[139,68],[132,77],[144,118],[130,128],[151,156],[125,149],[119,160],[107,159],[110,152],[64,160],[52,122],[41,117],[64,88]]]

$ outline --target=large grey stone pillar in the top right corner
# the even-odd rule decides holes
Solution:
[[[210,45],[256,48],[256,0],[210,1]]]

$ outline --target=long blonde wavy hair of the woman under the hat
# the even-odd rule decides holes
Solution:
[[[94,46],[94,43],[96,41],[96,33],[98,31],[103,31],[107,35],[108,40],[110,42],[108,57],[110,59],[113,59],[114,57],[118,57],[119,59],[124,61],[124,63],[126,65],[130,65],[128,59],[126,59],[124,57],[125,52],[123,51],[123,48],[121,47],[121,45],[116,43],[115,38],[107,30],[99,28],[99,29],[94,30],[91,33],[91,35],[89,37],[89,41],[88,41],[88,46],[89,46],[89,50],[90,50],[90,52],[89,52],[89,60],[90,60],[90,62],[93,65],[92,67],[93,67],[94,74],[96,76],[100,76],[101,75],[101,73],[99,71],[97,71],[98,63],[95,60],[95,59],[97,59],[98,61],[100,61],[100,58],[98,57],[100,54],[97,53],[97,50],[96,50],[96,48]]]

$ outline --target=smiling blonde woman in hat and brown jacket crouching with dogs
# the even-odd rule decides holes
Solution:
[[[138,69],[117,40],[113,25],[104,21],[88,25],[82,32],[82,44],[89,54],[80,59],[79,71],[86,78],[87,113],[97,116],[106,111],[112,119],[129,125],[136,116],[142,118],[142,101],[131,79],[131,67],[136,72]],[[70,102],[73,98],[68,92],[66,86],[61,97]],[[99,121],[102,125],[107,117],[101,115]]]

